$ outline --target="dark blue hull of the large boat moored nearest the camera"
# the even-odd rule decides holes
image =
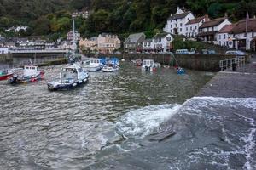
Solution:
[[[57,83],[54,84],[52,82],[48,82],[47,86],[49,91],[58,91],[58,90],[69,90],[72,88],[78,88],[81,85],[84,85],[85,83],[87,83],[89,81],[89,77],[84,78],[83,80],[78,80],[75,82],[70,82],[70,83]]]

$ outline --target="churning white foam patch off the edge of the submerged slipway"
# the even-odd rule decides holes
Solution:
[[[142,139],[160,123],[173,116],[181,105],[150,105],[130,111],[116,123],[117,133],[126,138]]]

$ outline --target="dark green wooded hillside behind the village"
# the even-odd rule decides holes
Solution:
[[[212,18],[229,14],[231,20],[256,14],[256,0],[0,0],[0,31],[9,26],[31,26],[28,34],[63,37],[71,28],[71,13],[90,8],[88,20],[78,18],[76,26],[83,36],[113,32],[124,37],[130,32],[145,31],[148,37],[161,31],[177,6],[195,15]]]

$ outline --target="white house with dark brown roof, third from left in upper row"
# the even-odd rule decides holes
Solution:
[[[199,27],[199,33],[197,36],[201,39],[201,41],[218,44],[218,31],[220,31],[225,25],[230,24],[231,22],[226,16],[223,18],[208,20]]]

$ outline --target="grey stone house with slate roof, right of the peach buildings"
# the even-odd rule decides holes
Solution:
[[[124,49],[125,52],[141,52],[143,50],[143,41],[146,39],[146,36],[143,32],[131,34],[125,39]]]

